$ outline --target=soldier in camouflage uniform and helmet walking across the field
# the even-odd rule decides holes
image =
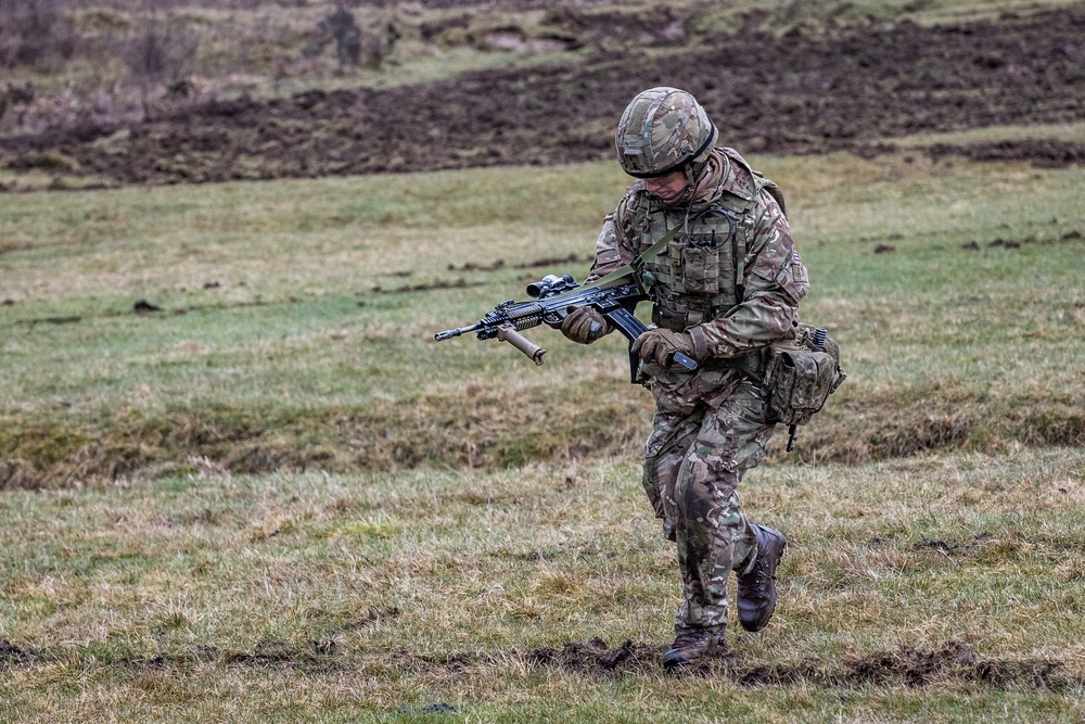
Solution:
[[[635,263],[654,327],[634,342],[655,398],[643,484],[664,535],[677,544],[684,601],[667,669],[725,649],[727,577],[738,575],[739,622],[760,631],[776,610],[783,535],[750,523],[739,507],[743,473],[764,457],[762,384],[767,346],[793,339],[806,268],[794,249],[779,189],[733,149],[689,93],[652,88],[626,107],[618,163],[638,179],[603,221],[588,280]],[[676,231],[677,229],[677,231]],[[590,307],[561,326],[588,344],[612,331]],[[675,353],[699,363],[672,366]]]

